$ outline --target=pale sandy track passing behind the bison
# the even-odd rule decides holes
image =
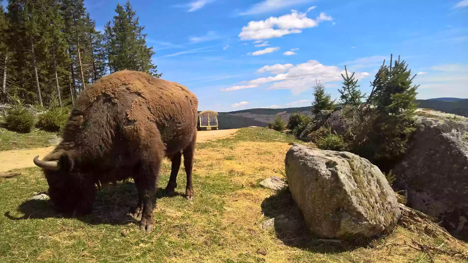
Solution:
[[[197,142],[206,142],[215,139],[223,139],[233,135],[238,129],[199,131],[197,133]],[[0,151],[0,172],[6,172],[12,169],[34,166],[32,159],[34,156],[44,157],[55,146],[34,149],[21,149],[11,151]]]

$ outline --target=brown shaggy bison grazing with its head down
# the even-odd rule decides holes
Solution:
[[[197,97],[183,85],[138,71],[117,71],[86,87],[76,100],[63,141],[43,160],[55,209],[91,213],[95,184],[133,178],[140,230],[153,227],[153,204],[164,157],[172,162],[172,195],[183,154],[186,198],[194,197],[192,164],[197,139]]]

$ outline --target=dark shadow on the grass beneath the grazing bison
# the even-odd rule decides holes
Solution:
[[[155,200],[165,196],[164,188],[157,188],[154,197]],[[174,196],[185,196],[182,193],[175,192]],[[18,211],[23,213],[22,217],[14,217],[10,212],[6,212],[5,216],[10,220],[27,220],[27,219],[45,219],[45,218],[76,218],[88,224],[111,224],[125,225],[128,223],[137,223],[137,219],[133,218],[129,211],[137,205],[138,191],[133,182],[119,183],[115,186],[109,186],[97,192],[93,212],[84,216],[73,216],[57,212],[50,200],[29,199],[18,206]]]

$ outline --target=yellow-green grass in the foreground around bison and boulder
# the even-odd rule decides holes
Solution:
[[[159,194],[150,234],[140,232],[138,220],[126,214],[137,201],[132,181],[103,189],[92,214],[69,219],[47,201],[29,200],[35,192],[46,191],[47,183],[35,167],[19,170],[20,176],[0,178],[0,211],[5,214],[0,216],[0,262],[431,263],[429,250],[412,248],[412,239],[441,250],[467,251],[465,243],[424,230],[437,230],[425,222],[420,225],[432,228],[398,226],[384,238],[358,244],[317,242],[300,223],[294,231],[263,229],[264,220],[279,215],[300,222],[287,189],[274,192],[257,186],[270,175],[283,177],[291,142],[299,141],[264,128],[246,128],[229,139],[198,144],[195,199]],[[169,173],[165,161],[160,187],[166,186]],[[177,184],[176,191],[183,192],[183,169]],[[438,263],[468,262],[430,253]]]

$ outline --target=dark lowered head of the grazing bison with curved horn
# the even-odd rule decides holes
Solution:
[[[36,156],[34,164],[44,171],[54,208],[62,213],[90,213],[96,193],[92,178],[75,169],[72,158],[65,153],[46,159]]]

